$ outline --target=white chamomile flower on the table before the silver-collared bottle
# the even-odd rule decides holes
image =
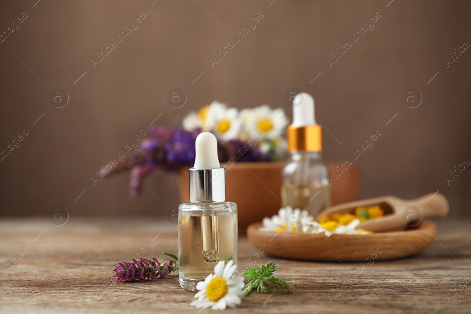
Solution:
[[[244,278],[233,275],[237,271],[237,266],[232,260],[227,264],[219,261],[214,266],[214,273],[209,274],[204,281],[196,284],[198,292],[195,294],[197,300],[191,301],[190,305],[213,310],[224,310],[226,306],[235,308],[241,304],[240,296],[244,290]]]

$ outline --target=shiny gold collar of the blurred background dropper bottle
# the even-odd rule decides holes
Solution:
[[[288,125],[286,137],[288,151],[322,151],[322,127],[319,124],[302,127]]]

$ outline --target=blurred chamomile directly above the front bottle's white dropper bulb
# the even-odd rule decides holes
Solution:
[[[204,126],[223,141],[235,139],[241,127],[239,112],[235,108],[213,102],[206,113]]]

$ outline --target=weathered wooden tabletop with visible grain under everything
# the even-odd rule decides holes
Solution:
[[[250,293],[228,313],[470,313],[470,222],[438,222],[437,241],[411,258],[360,263],[317,263],[271,258],[276,274],[298,292]],[[25,248],[25,249],[23,249]],[[22,254],[27,250],[27,253]],[[0,313],[210,313],[189,303],[178,274],[114,282],[116,262],[177,252],[177,228],[164,220],[0,219]],[[257,248],[239,237],[239,265]],[[12,259],[20,253],[21,259]],[[19,262],[19,264],[18,264]],[[1,276],[1,274],[0,274]],[[353,281],[342,290],[342,283]],[[335,298],[334,298],[335,297]]]

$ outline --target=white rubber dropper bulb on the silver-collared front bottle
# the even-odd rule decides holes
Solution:
[[[218,141],[211,132],[202,132],[196,137],[195,165],[193,169],[220,168]]]

